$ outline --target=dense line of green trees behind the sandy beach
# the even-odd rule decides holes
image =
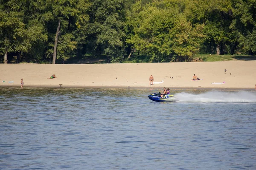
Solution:
[[[0,62],[256,52],[256,0],[0,0]]]

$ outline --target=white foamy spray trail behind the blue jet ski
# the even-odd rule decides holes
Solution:
[[[202,94],[179,93],[175,94],[178,102],[249,102],[256,103],[256,93],[249,91],[208,91]]]

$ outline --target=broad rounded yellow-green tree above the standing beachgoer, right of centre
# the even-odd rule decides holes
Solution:
[[[170,2],[176,5],[170,6]],[[129,27],[134,34],[127,39],[152,61],[189,61],[199,50],[203,25],[192,26],[183,15],[185,4],[166,0],[142,6],[138,1],[131,12]]]

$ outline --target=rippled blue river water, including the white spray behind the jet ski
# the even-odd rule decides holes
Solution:
[[[256,169],[256,91],[159,90],[0,88],[0,169]]]

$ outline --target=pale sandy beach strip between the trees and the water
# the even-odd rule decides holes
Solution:
[[[226,72],[224,70],[227,70]],[[128,64],[0,64],[0,86],[254,89],[256,61]],[[47,79],[52,74],[57,78]],[[152,74],[154,82],[149,85]],[[192,81],[193,74],[201,80]],[[5,81],[5,82],[3,82]],[[221,84],[225,82],[224,84]],[[215,83],[215,84],[212,84]],[[217,84],[216,84],[217,83]]]

